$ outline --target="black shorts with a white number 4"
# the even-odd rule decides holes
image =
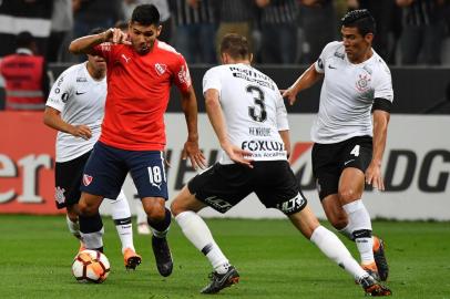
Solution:
[[[339,177],[347,167],[366,172],[372,158],[372,137],[357,136],[333,144],[315,143],[313,146],[313,174],[319,198],[337,194]]]

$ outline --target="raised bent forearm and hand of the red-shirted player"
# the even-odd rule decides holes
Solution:
[[[79,38],[69,45],[72,54],[95,54],[94,47],[103,42],[131,44],[126,33],[119,28],[110,28],[106,31]]]

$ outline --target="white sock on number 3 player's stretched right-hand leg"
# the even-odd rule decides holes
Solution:
[[[313,231],[310,241],[313,241],[329,259],[333,259],[349,272],[355,279],[359,280],[361,277],[367,276],[366,271],[351,257],[350,252],[339,238],[330,230],[323,226],[318,226]]]

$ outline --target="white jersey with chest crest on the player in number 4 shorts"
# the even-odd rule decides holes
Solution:
[[[389,68],[374,51],[367,61],[348,61],[342,42],[328,43],[315,63],[324,73],[320,106],[311,127],[317,143],[338,143],[354,136],[372,135],[374,99],[393,101]]]

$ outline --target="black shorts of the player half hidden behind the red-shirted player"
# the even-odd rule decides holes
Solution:
[[[54,166],[54,200],[58,208],[78,204],[80,200],[80,182],[83,176],[91,151],[68,162],[57,162]]]

